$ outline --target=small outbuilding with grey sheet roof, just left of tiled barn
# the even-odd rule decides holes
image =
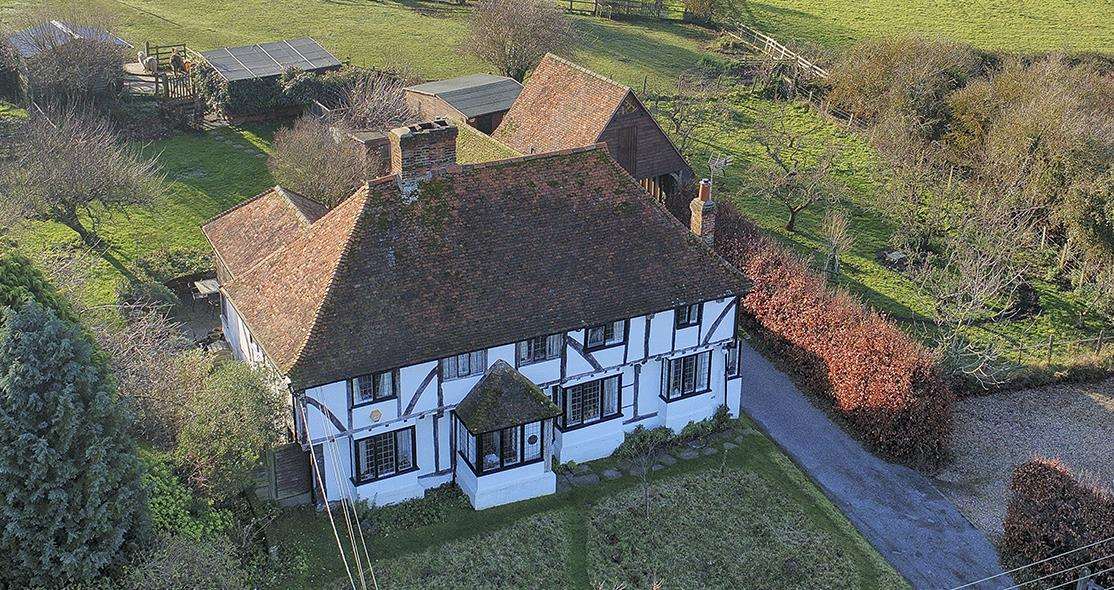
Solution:
[[[411,86],[405,91],[407,102],[423,119],[444,117],[490,135],[522,91],[522,85],[502,76],[473,73]]]

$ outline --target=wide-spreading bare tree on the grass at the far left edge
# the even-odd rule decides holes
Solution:
[[[106,212],[152,203],[163,179],[107,121],[76,110],[32,114],[0,163],[0,218],[57,222],[94,246]]]

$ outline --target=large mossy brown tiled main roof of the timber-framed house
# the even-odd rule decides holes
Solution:
[[[225,257],[251,246],[214,247]],[[381,178],[261,256],[224,288],[295,387],[733,295],[744,283],[602,146],[460,166],[409,205],[394,177]]]

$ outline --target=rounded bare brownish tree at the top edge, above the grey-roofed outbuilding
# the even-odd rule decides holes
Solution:
[[[573,40],[571,21],[549,0],[480,0],[461,48],[522,81],[543,56],[567,51]]]

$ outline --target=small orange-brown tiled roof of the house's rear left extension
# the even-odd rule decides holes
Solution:
[[[328,209],[293,190],[274,187],[216,216],[202,232],[233,276],[299,237]]]

